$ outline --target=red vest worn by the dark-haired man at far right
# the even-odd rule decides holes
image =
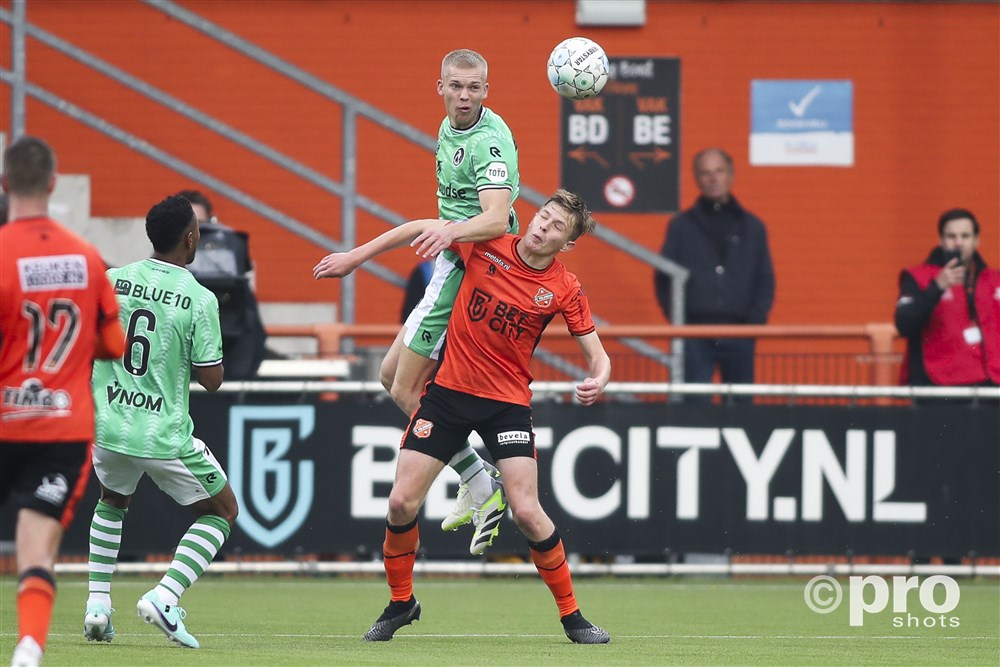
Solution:
[[[908,273],[920,290],[931,287],[941,270],[934,264],[914,266]],[[937,289],[936,286],[933,289]],[[1000,271],[979,267],[973,292],[973,320],[965,288],[955,285],[941,294],[937,305],[919,332],[922,360],[928,379],[935,385],[1000,384]],[[970,344],[965,331],[978,326],[981,339]],[[903,332],[907,333],[907,332]],[[913,350],[913,336],[907,354]],[[904,364],[904,369],[909,364]]]

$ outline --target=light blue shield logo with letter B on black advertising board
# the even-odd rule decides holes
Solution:
[[[311,405],[240,405],[229,409],[229,484],[236,525],[265,547],[291,537],[309,515],[315,463],[292,455],[316,424]]]

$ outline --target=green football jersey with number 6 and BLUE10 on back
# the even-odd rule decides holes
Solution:
[[[187,269],[146,259],[108,270],[125,329],[121,359],[94,362],[96,443],[122,454],[191,451],[191,366],[222,363],[219,302]]]

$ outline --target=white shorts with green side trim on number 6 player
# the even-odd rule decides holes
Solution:
[[[94,447],[94,472],[106,489],[131,496],[142,476],[179,505],[215,497],[226,486],[226,473],[205,443],[194,438],[194,451],[179,459],[146,459]]]

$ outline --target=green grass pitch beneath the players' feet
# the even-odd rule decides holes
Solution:
[[[806,607],[805,579],[576,580],[584,614],[612,643],[578,646],[535,577],[417,577],[422,620],[391,642],[361,636],[388,600],[383,581],[349,577],[212,576],[183,600],[200,650],[180,649],[135,614],[153,576],[114,584],[117,636],[82,635],[84,577],[62,576],[46,667],[73,665],[997,665],[1000,582],[959,580],[958,627],[923,627],[932,614],[911,596],[907,621],[890,609],[851,627],[846,601],[831,614]],[[846,594],[846,581],[845,585]],[[16,639],[16,580],[0,578],[0,661]],[[4,663],[6,664],[6,663]]]

